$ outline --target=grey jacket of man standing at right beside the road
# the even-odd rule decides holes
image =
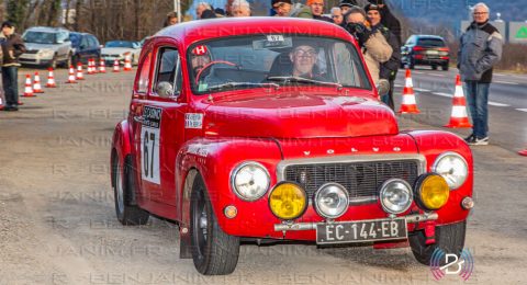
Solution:
[[[472,24],[460,38],[458,68],[463,81],[492,82],[492,67],[502,58],[503,37],[489,22]]]

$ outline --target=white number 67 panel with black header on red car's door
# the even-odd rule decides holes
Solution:
[[[141,129],[141,176],[143,180],[160,184],[159,180],[159,135],[161,110],[145,106]]]

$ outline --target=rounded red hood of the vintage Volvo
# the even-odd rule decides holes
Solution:
[[[212,102],[205,135],[313,138],[394,135],[394,113],[377,100],[293,92]]]

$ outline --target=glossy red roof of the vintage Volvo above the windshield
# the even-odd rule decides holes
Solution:
[[[171,37],[188,46],[202,39],[272,33],[306,34],[352,41],[352,37],[346,30],[333,23],[311,19],[279,16],[221,18],[190,21],[162,29],[149,38]]]

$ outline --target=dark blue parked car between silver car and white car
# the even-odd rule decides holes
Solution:
[[[94,35],[71,32],[69,33],[69,39],[74,47],[72,60],[75,65],[77,62],[87,64],[90,58],[98,60],[101,57],[101,44]]]

